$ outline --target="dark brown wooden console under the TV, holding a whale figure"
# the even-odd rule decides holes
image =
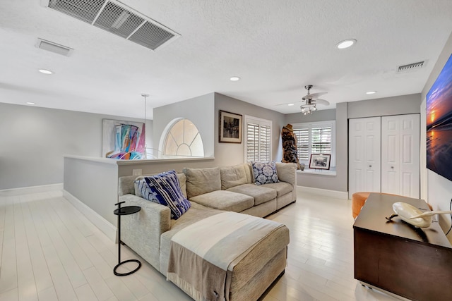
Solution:
[[[353,225],[355,278],[410,300],[452,300],[452,246],[439,224],[387,221],[395,202],[428,211],[422,199],[371,193]]]

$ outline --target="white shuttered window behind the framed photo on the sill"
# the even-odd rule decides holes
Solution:
[[[297,123],[292,126],[297,136],[300,163],[309,164],[311,154],[331,154],[331,166],[335,166],[335,121]]]

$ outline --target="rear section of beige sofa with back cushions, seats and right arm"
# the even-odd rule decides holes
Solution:
[[[253,216],[268,216],[297,200],[295,164],[277,163],[279,183],[255,185],[251,164],[185,168],[191,202]]]

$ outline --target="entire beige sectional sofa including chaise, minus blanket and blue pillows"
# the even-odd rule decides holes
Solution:
[[[171,219],[168,207],[135,195],[136,176],[121,177],[119,202],[141,207],[138,214],[122,216],[121,240],[166,276],[172,237],[187,226],[225,211],[267,216],[295,202],[295,164],[276,164],[276,168],[280,182],[265,185],[254,184],[250,164],[185,168],[177,178],[191,208],[177,220]],[[256,242],[228,274],[226,300],[257,300],[283,274],[288,243],[285,226]]]

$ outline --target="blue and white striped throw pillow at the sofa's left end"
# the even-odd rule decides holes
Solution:
[[[145,177],[143,181],[138,181],[138,190],[144,199],[171,209],[172,219],[179,219],[191,207],[182,193],[176,171]]]

